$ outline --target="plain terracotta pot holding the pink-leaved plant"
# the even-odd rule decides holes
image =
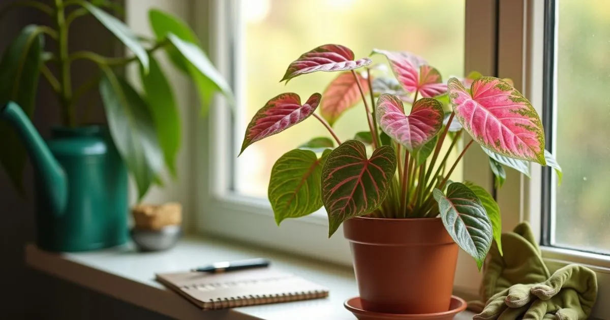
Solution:
[[[351,218],[350,241],[362,307],[417,315],[449,310],[458,245],[440,218]]]

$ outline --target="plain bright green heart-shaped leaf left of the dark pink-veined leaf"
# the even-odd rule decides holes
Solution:
[[[330,152],[326,149],[318,158],[313,151],[294,149],[275,162],[267,194],[278,226],[322,207],[320,177]]]

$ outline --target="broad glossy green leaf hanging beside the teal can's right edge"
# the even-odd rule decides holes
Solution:
[[[163,152],[146,101],[127,83],[106,71],[99,83],[112,140],[138,188],[142,199],[163,168]]]

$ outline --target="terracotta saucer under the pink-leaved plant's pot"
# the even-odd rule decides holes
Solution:
[[[379,313],[362,309],[360,297],[353,297],[343,303],[347,310],[359,320],[403,320],[403,319],[428,319],[428,320],[451,320],[455,315],[466,309],[466,302],[456,296],[451,296],[450,310],[445,312],[428,313],[422,315],[399,315],[396,313]]]

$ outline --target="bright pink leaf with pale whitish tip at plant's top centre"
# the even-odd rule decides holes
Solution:
[[[431,98],[447,92],[437,69],[426,64],[425,60],[407,52],[373,50],[373,53],[385,55],[392,66],[392,71],[404,90],[409,93],[419,91],[422,97]]]

